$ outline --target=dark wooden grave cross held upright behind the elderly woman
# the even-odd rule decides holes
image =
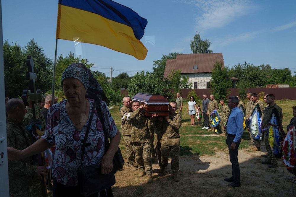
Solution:
[[[34,61],[31,56],[27,56],[27,66],[28,66],[28,72],[26,72],[26,79],[30,80],[30,89],[23,90],[22,94],[22,101],[25,103],[26,106],[28,106],[30,103],[32,104],[33,109],[33,120],[36,120],[41,117],[40,112],[40,104],[42,100],[42,94],[41,90],[36,90],[36,84],[35,81],[37,81],[37,74],[34,73]],[[33,133],[36,134],[36,125],[32,125]],[[38,165],[43,165],[41,153],[38,154]],[[47,191],[46,191],[46,185],[45,185],[45,179],[44,176],[42,176],[41,181],[41,191],[42,196],[47,197]]]

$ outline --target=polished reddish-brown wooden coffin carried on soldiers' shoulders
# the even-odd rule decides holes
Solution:
[[[168,115],[169,101],[160,94],[138,93],[133,97],[133,100],[139,101],[141,105],[147,105],[143,110],[147,116],[152,116],[153,113]]]

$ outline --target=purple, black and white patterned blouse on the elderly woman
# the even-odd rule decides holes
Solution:
[[[86,128],[91,123],[86,147],[83,156],[83,166],[101,165],[105,152],[105,138],[102,123],[97,116],[96,109],[90,121],[91,109],[94,100],[88,99],[90,103],[89,117],[86,125],[78,129],[73,125],[67,114],[66,100],[52,105],[47,116],[46,132],[43,138],[50,144],[56,144],[52,171],[57,182],[68,186],[78,185],[78,170],[81,161],[81,148],[86,133]],[[101,101],[101,111],[107,136],[113,138],[118,128],[110,114],[107,104]]]

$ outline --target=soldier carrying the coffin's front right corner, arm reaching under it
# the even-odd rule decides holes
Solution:
[[[153,114],[151,121],[156,124],[162,124],[163,135],[161,137],[161,163],[159,176],[164,176],[165,167],[168,166],[169,154],[172,158],[171,169],[173,172],[173,180],[178,182],[179,178],[177,172],[179,170],[179,155],[180,155],[180,133],[179,128],[182,125],[182,116],[176,113],[177,103],[172,101],[169,105],[169,115],[164,116],[163,119],[157,119],[157,115]]]

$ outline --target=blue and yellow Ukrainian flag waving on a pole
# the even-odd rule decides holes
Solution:
[[[56,38],[101,45],[145,59],[147,20],[111,0],[59,0]]]

